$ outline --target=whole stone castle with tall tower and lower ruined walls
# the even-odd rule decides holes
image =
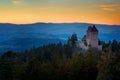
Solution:
[[[76,41],[76,46],[82,50],[87,50],[90,46],[102,50],[102,46],[98,45],[98,32],[95,26],[89,26],[86,35],[81,40]]]

